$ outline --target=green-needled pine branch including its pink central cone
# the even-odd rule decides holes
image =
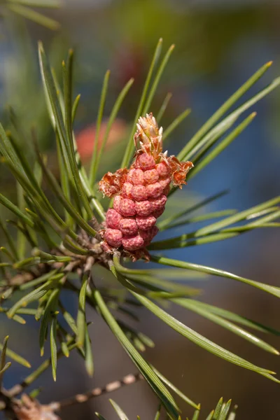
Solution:
[[[53,25],[53,22],[31,11],[29,6],[35,6],[33,2],[7,0],[7,5],[15,13],[21,13],[49,26]],[[279,335],[278,331],[226,309],[198,301],[197,295],[200,295],[202,290],[187,286],[182,280],[201,281],[209,275],[221,276],[259,288],[274,297],[280,297],[280,288],[270,286],[269,281],[260,283],[216,267],[172,260],[162,255],[151,255],[149,251],[167,252],[174,248],[202,244],[211,246],[214,241],[244,235],[251,230],[279,228],[279,197],[243,211],[236,209],[205,211],[207,204],[216,203],[218,198],[227,193],[223,191],[204,198],[191,207],[180,209],[171,216],[165,217],[164,212],[165,203],[167,200],[172,200],[172,193],[177,188],[182,188],[186,184],[186,177],[191,181],[195,174],[203,171],[253,121],[255,113],[245,116],[244,120],[234,127],[238,118],[247,109],[280,84],[280,78],[273,80],[265,89],[260,90],[228,114],[237,100],[241,99],[260,79],[271,63],[262,66],[198,130],[176,158],[164,150],[162,139],[174,135],[176,128],[188,116],[189,109],[182,111],[165,130],[158,127],[158,122],[152,113],[147,114],[153,104],[162,73],[174,50],[174,45],[171,45],[159,62],[161,47],[162,39],[155,48],[144,90],[132,122],[132,131],[123,155],[123,165],[114,174],[110,172],[110,167],[107,168],[108,172],[99,182],[99,190],[107,197],[113,198],[113,208],[109,208],[108,211],[104,211],[95,183],[106,140],[120,106],[127,101],[132,80],[123,87],[116,103],[113,104],[106,125],[106,134],[101,148],[98,149],[97,142],[109,87],[109,72],[106,72],[97,115],[97,139],[95,139],[89,174],[80,161],[73,134],[77,107],[82,99],[80,95],[73,99],[72,50],[62,62],[63,86],[60,87],[57,81],[59,78],[51,70],[43,45],[41,43],[38,45],[43,92],[57,146],[58,178],[52,174],[48,162],[41,153],[40,137],[36,138],[35,129],[31,132],[32,155],[29,159],[25,153],[22,153],[27,140],[21,134],[20,121],[12,109],[9,111],[9,118],[13,132],[6,131],[0,125],[2,161],[15,178],[18,192],[18,201],[15,203],[10,197],[0,194],[0,203],[11,214],[8,224],[0,221],[5,241],[1,246],[0,296],[3,305],[0,314],[22,325],[25,324],[25,317],[34,316],[40,324],[38,335],[41,353],[43,354],[45,344],[50,339],[51,354],[50,358],[44,360],[41,366],[27,375],[20,384],[15,384],[9,390],[0,388],[0,408],[12,412],[15,419],[20,418],[23,413],[29,414],[30,409],[36,410],[40,415],[47,410],[52,416],[50,418],[58,419],[55,414],[57,409],[109,393],[142,377],[151,386],[160,400],[161,410],[165,409],[170,419],[180,418],[180,409],[172,393],[176,393],[188,402],[195,409],[193,420],[198,419],[200,405],[184,395],[142,356],[141,353],[145,351],[146,346],[152,348],[154,343],[150,337],[139,331],[139,328],[130,325],[130,321],[137,322],[140,318],[134,312],[136,307],[151,311],[162,323],[174,328],[206,351],[279,382],[271,370],[254,365],[249,360],[244,360],[228,349],[211,342],[190,329],[188,325],[176,320],[158,304],[169,302],[180,305],[209,319],[219,327],[246,338],[250,344],[277,355],[279,351],[255,334],[267,332]],[[163,120],[170,98],[171,94],[167,94],[158,111],[159,120]],[[134,159],[131,162],[133,153]],[[194,169],[192,169],[193,163],[186,161],[188,158],[192,158],[195,162]],[[49,198],[47,188],[52,191],[52,200]],[[169,192],[170,188],[172,190]],[[198,210],[204,213],[195,214]],[[157,227],[156,223],[160,216],[162,219]],[[197,222],[204,223],[202,228],[193,227]],[[183,232],[177,237],[167,237],[162,241],[154,240],[158,230],[167,231],[185,225],[190,226],[190,232]],[[13,230],[17,232],[16,241]],[[131,258],[133,262],[146,260],[148,268],[135,268],[134,264],[127,267],[127,258]],[[157,266],[152,266],[152,263]],[[100,277],[108,278],[109,286],[107,283],[106,286],[104,284],[99,286],[99,281],[95,281],[95,276],[99,276],[101,270]],[[76,280],[75,283],[73,279]],[[71,290],[76,297],[78,304],[76,314],[71,313],[71,308],[62,303],[64,290]],[[51,367],[52,377],[55,380],[57,361],[64,356],[68,357],[73,349],[76,349],[83,358],[85,369],[92,376],[94,356],[90,342],[90,323],[87,322],[87,307],[94,309],[94,316],[104,318],[139,373],[50,405],[41,405],[30,395],[25,395],[20,402],[18,395],[33,384],[48,367]],[[60,316],[57,316],[59,313],[65,323]],[[125,321],[119,318],[119,314],[125,315]],[[253,328],[257,332],[252,334],[245,328]],[[1,384],[4,374],[7,374],[10,367],[10,362],[6,362],[6,358],[11,358],[25,367],[30,365],[25,358],[7,347],[7,339],[0,347]],[[116,402],[111,401],[111,404],[120,419],[127,419],[123,409]],[[230,412],[230,404],[230,401],[220,400],[207,419],[234,419],[235,409]],[[101,414],[97,416],[99,419],[104,419]],[[155,419],[159,416],[160,409],[155,414]]]

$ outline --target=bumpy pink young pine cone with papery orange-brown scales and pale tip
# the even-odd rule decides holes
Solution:
[[[158,233],[155,223],[165,211],[170,186],[182,188],[193,163],[162,153],[162,127],[158,129],[152,113],[139,118],[134,144],[136,159],[130,169],[105,174],[99,190],[107,197],[114,196],[101,232],[104,251],[118,249],[137,260],[148,259],[146,246]]]

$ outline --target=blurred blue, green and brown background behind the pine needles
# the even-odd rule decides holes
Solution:
[[[36,125],[41,148],[48,153],[48,162],[54,171],[57,169],[55,140],[38,73],[38,39],[43,40],[57,73],[68,48],[75,50],[74,91],[82,95],[75,130],[85,165],[94,140],[94,122],[106,69],[111,69],[106,116],[109,116],[123,85],[130,77],[135,79],[113,126],[100,176],[109,169],[113,172],[120,163],[127,130],[130,130],[158,38],[164,39],[165,49],[171,43],[175,43],[176,48],[151,111],[158,112],[167,92],[173,92],[173,97],[162,120],[164,128],[183,109],[188,106],[192,109],[190,116],[169,140],[167,147],[172,154],[176,154],[218,106],[262,64],[274,61],[250,95],[280,73],[279,1],[64,0],[60,10],[45,14],[60,22],[61,27],[50,31],[15,15],[3,13],[1,16],[0,113],[5,123],[8,120],[6,106],[13,106],[22,122],[22,132],[26,134],[31,125]],[[258,117],[253,124],[207,169],[200,172],[183,192],[174,195],[174,205],[186,206],[186,203],[229,189],[228,195],[209,205],[207,210],[246,209],[279,194],[280,90],[262,99],[253,107],[254,110],[258,112]],[[0,176],[1,192],[13,197],[13,179],[5,167],[0,167]],[[1,215],[6,216],[3,209]],[[183,230],[187,232],[188,227]],[[179,232],[182,228],[174,230],[172,235]],[[174,250],[170,256],[279,285],[279,249],[279,232],[262,230],[228,241]],[[279,329],[279,302],[275,297],[229,279],[209,277],[200,282],[195,286],[203,286],[205,302],[237,311]],[[65,295],[64,299],[69,300],[76,310],[76,302],[71,295]],[[183,323],[239,356],[280,372],[280,360],[276,356],[264,353],[188,311],[169,310]],[[86,376],[83,360],[72,354],[69,360],[60,361],[55,384],[50,371],[34,384],[43,387],[42,402],[66,398],[135,372],[103,321],[93,313],[89,314],[89,318],[93,321],[94,377],[90,379]],[[212,356],[163,326],[144,310],[139,328],[155,340],[155,349],[146,352],[148,360],[190,398],[201,402],[202,414],[206,415],[223,396],[233,398],[239,405],[239,420],[279,419],[279,385]],[[8,322],[4,316],[0,318],[0,336],[8,333],[10,347],[20,350],[34,367],[41,363],[37,332],[36,323],[31,321],[22,327]],[[279,337],[270,337],[269,342],[280,348]],[[27,374],[27,370],[16,363],[9,372],[7,387]],[[110,396],[123,407],[130,419],[136,419],[137,414],[141,419],[153,419],[158,402],[144,382]],[[190,416],[192,409],[186,405],[182,407],[185,416]],[[108,395],[105,395],[86,405],[65,409],[62,419],[93,419],[95,411],[110,420],[116,418]]]

